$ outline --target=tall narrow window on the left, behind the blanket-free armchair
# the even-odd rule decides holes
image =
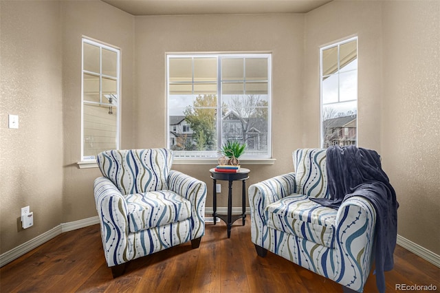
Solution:
[[[83,161],[119,149],[120,50],[83,38]]]

